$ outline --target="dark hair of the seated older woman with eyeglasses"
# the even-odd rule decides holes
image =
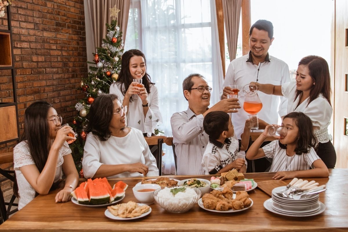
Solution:
[[[86,131],[97,135],[101,141],[106,141],[111,136],[109,126],[113,117],[113,101],[115,99],[118,99],[115,94],[102,94],[96,97],[90,105]]]

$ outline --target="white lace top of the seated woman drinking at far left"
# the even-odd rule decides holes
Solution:
[[[59,150],[58,163],[56,168],[56,175],[54,177],[54,182],[62,178],[62,164],[64,162],[63,156],[70,154],[71,150],[67,142]],[[27,203],[32,201],[35,197],[35,190],[29,184],[29,182],[23,176],[19,168],[35,164],[31,154],[27,141],[22,141],[18,143],[13,149],[13,166],[16,172],[16,179],[18,184],[18,210],[22,209]]]

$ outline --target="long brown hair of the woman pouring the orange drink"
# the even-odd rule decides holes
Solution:
[[[306,56],[303,57],[299,62],[299,65],[301,64],[307,66],[309,70],[309,75],[315,82],[315,85],[310,89],[309,92],[308,104],[311,103],[311,101],[313,101],[314,99],[316,99],[319,96],[319,94],[323,94],[323,96],[331,105],[330,71],[329,65],[327,64],[325,59],[320,56]],[[301,93],[302,91],[296,90],[296,96],[294,101]]]

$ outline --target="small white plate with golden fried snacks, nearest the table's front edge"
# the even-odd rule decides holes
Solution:
[[[134,201],[128,201],[114,206],[108,206],[104,214],[106,217],[115,220],[132,220],[151,213],[151,207]]]

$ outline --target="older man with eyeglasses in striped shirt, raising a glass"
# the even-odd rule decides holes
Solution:
[[[182,89],[189,107],[185,111],[174,113],[171,118],[177,163],[176,173],[177,175],[205,175],[201,162],[209,138],[203,130],[204,116],[218,110],[235,113],[238,110],[232,109],[239,109],[240,106],[236,98],[229,98],[208,108],[212,88],[198,73],[190,74],[185,78]]]

